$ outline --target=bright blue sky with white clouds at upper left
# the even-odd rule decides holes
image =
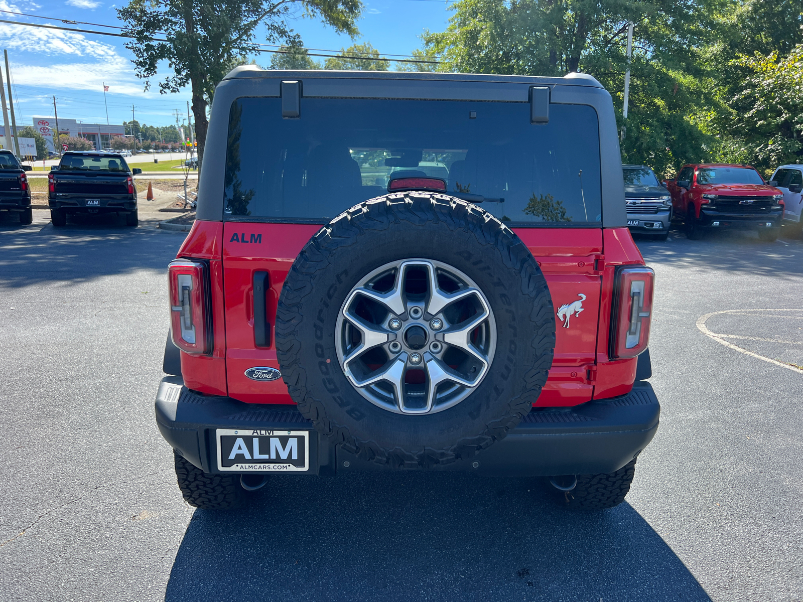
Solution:
[[[369,0],[357,23],[362,34],[357,42],[370,42],[382,53],[410,54],[422,46],[418,37],[422,31],[446,28],[451,14],[446,10],[447,4],[429,0]],[[120,2],[112,4],[102,0],[48,0],[43,4],[0,0],[0,10],[108,25],[120,25],[115,10],[119,6],[122,6]],[[8,13],[0,13],[0,18],[63,25]],[[291,22],[291,26],[300,33],[307,47],[339,50],[353,43],[349,36],[337,35],[320,22],[300,19]],[[114,31],[81,25],[72,27]],[[125,49],[122,39],[0,23],[0,47],[9,53],[18,125],[30,125],[35,116],[53,116],[53,96],[59,117],[105,123],[104,82],[109,86],[106,97],[112,124],[130,120],[132,104],[141,124],[175,124],[173,111],[186,113],[187,100],[190,100],[188,92],[160,95],[155,85],[149,92],[143,92],[143,83],[134,74],[132,55]],[[267,66],[270,56],[259,55],[257,63]]]

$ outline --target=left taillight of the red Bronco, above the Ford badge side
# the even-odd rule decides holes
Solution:
[[[179,259],[168,266],[170,335],[181,351],[212,351],[212,319],[206,264]]]

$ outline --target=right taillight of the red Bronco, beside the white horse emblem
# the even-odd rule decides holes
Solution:
[[[610,355],[635,357],[650,343],[655,272],[649,267],[624,267],[614,285]]]

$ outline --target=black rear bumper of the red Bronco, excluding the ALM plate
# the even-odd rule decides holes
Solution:
[[[573,408],[533,409],[507,437],[472,462],[454,462],[434,470],[532,476],[612,473],[650,443],[658,430],[659,414],[660,405],[652,386],[642,380],[621,397],[589,401]],[[309,470],[286,474],[387,470],[319,438],[312,422],[295,406],[246,404],[230,397],[203,396],[183,386],[179,376],[161,380],[156,421],[165,441],[208,473],[219,472],[215,445],[218,428],[310,431]]]

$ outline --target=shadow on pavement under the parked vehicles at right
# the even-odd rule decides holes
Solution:
[[[692,241],[683,230],[671,230],[666,241],[634,236],[646,262],[661,262],[689,270],[724,270],[786,278],[803,274],[803,240],[782,232],[777,242],[764,242],[748,230],[722,230]]]

